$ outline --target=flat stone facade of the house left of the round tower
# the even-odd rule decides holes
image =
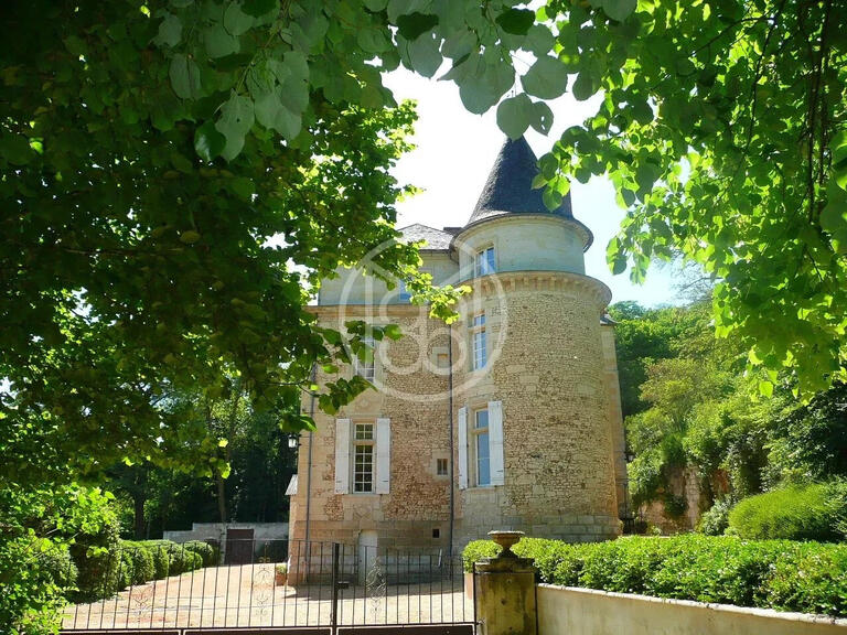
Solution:
[[[320,324],[339,329],[344,320],[365,319],[398,324],[405,336],[378,343],[375,384],[336,416],[314,413],[318,430],[303,434],[298,458],[298,492],[291,505],[294,540],[357,545],[363,531],[375,531],[379,548],[443,550],[449,539],[449,476],[436,474],[437,459],[449,459],[448,373],[433,372],[438,354],[448,347],[448,330],[430,320],[426,308],[392,305],[379,319],[365,306],[313,308]],[[350,377],[350,368],[341,368]],[[319,372],[317,383],[334,380]],[[303,400],[308,410],[310,399]],[[335,494],[335,419],[390,419],[390,485],[388,494]],[[311,488],[309,443],[312,444]],[[305,497],[311,492],[309,536]],[[433,537],[433,529],[438,537]]]

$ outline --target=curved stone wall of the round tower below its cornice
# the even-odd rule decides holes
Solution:
[[[505,483],[461,493],[457,541],[492,528],[573,541],[614,537],[614,440],[600,332],[608,290],[573,273],[497,278],[474,295],[485,306],[490,346],[500,349],[490,352],[493,365],[475,384],[468,367],[457,369],[454,384],[467,388],[454,417],[461,407],[502,401]]]

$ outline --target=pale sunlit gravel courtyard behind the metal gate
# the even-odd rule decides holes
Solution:
[[[329,584],[276,586],[274,564],[199,569],[130,586],[115,598],[71,605],[63,629],[328,625]],[[473,621],[462,577],[418,584],[353,585],[340,591],[339,624]]]

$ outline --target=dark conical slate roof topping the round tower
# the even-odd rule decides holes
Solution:
[[[506,139],[468,225],[507,214],[554,214],[572,218],[570,193],[557,209],[547,209],[543,190],[533,190],[533,179],[538,172],[538,160],[526,139]]]

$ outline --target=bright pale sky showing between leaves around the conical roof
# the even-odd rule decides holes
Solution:
[[[384,82],[397,100],[418,103],[412,139],[417,149],[399,160],[394,175],[400,183],[411,183],[424,192],[397,205],[398,227],[412,223],[438,228],[464,225],[505,141],[497,128],[496,109],[483,116],[472,115],[462,106],[454,84],[427,79],[404,68],[386,75]],[[549,105],[555,117],[549,136],[532,129],[526,133],[538,157],[562,130],[593,114],[597,97],[579,103],[565,95]],[[673,287],[674,272],[668,267],[651,267],[643,286],[631,282],[629,271],[612,276],[609,270],[605,246],[624,215],[614,201],[611,182],[604,177],[594,177],[585,185],[575,181],[570,192],[573,215],[594,234],[594,243],[586,254],[586,272],[609,286],[612,302],[636,300],[646,306],[679,303]]]

